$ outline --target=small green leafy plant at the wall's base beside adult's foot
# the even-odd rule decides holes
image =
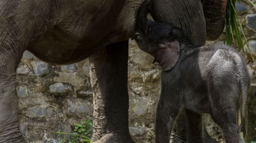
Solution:
[[[73,133],[65,133],[65,132],[55,132],[59,134],[65,134],[70,135],[69,138],[65,137],[60,140],[60,143],[80,143],[80,142],[87,142],[90,143],[91,139],[87,136],[91,136],[91,127],[93,126],[93,123],[91,120],[85,120],[81,123],[75,123]]]

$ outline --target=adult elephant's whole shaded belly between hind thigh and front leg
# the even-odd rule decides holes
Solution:
[[[47,63],[70,64],[82,61],[106,45],[129,39],[135,26],[135,9],[139,4],[124,1],[93,0],[78,7],[51,29],[47,29],[27,48]],[[135,2],[135,1],[134,1]],[[80,4],[83,5],[83,4]]]

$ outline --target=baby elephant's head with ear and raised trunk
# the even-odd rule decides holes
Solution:
[[[180,46],[174,36],[181,32],[177,27],[168,23],[158,23],[147,20],[147,0],[138,10],[137,32],[132,36],[141,50],[151,54],[154,62],[160,64],[163,70],[171,70],[180,57]]]

